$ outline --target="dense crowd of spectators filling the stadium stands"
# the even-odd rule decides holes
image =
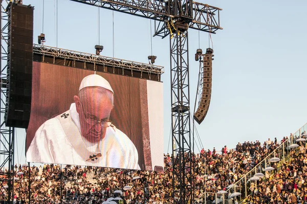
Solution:
[[[281,142],[286,139],[287,137],[283,138]],[[240,179],[278,146],[275,138],[275,140],[269,139],[262,145],[256,140],[255,142],[238,143],[235,149],[230,150],[225,146],[219,153],[215,148],[212,151],[202,149],[199,154],[193,155],[195,198],[201,196],[205,191],[227,190],[229,185]],[[271,202],[272,199],[275,203],[275,200],[279,199],[276,195],[278,194],[277,189],[279,189],[277,183],[280,182],[284,186],[283,189],[289,189],[289,186],[292,186],[292,190],[289,192],[282,191],[283,194],[280,194],[280,198],[286,196],[288,199],[289,196],[295,195],[298,197],[297,200],[306,200],[307,188],[305,189],[305,186],[307,187],[307,182],[304,184],[302,179],[307,176],[307,171],[304,171],[307,155],[305,152],[298,157],[295,156],[295,153],[291,153],[291,155],[293,156],[292,161],[282,166],[281,173],[279,171],[270,180],[258,181],[257,187],[254,189],[252,186],[249,188],[249,193],[252,193],[253,196],[248,198],[248,203],[267,203],[267,200]],[[29,167],[16,165],[15,172],[14,203],[28,203]],[[31,203],[94,204],[102,203],[109,197],[121,197],[123,200],[118,201],[119,203],[173,202],[172,157],[169,154],[164,155],[164,172],[69,165],[61,168],[60,165],[52,164],[30,167],[30,172]],[[136,178],[136,176],[140,178]],[[285,182],[291,182],[291,185],[285,185]],[[129,186],[131,189],[123,190],[125,186]],[[114,193],[116,190],[122,192]],[[1,192],[2,199],[5,199],[5,191],[2,189]],[[176,196],[174,195],[175,198]],[[198,200],[198,202],[203,201],[202,199]]]

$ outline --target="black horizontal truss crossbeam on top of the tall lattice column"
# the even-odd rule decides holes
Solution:
[[[189,22],[189,28],[215,33],[220,26],[221,8],[190,1],[164,0],[71,0],[113,11],[155,20],[155,35],[166,37],[178,19]],[[180,2],[180,4],[178,3]]]

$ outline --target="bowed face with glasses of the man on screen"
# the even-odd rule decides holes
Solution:
[[[102,127],[101,123],[109,120],[113,104],[107,94],[97,89],[87,88],[83,95],[82,99],[78,96],[74,97],[79,113],[81,135],[87,141],[97,143],[105,136],[106,127]],[[101,123],[92,125],[87,123],[86,119],[97,120]]]

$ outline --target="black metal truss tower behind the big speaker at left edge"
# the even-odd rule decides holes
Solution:
[[[0,188],[5,190],[7,201],[13,201],[14,192],[14,128],[6,127],[7,59],[9,46],[8,13],[9,1],[0,0],[1,6],[1,93],[0,93]]]

